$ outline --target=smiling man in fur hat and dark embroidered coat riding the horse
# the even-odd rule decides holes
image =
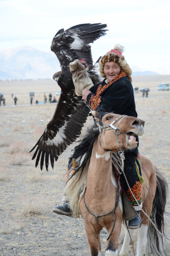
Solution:
[[[123,47],[116,45],[114,49],[107,52],[99,61],[99,71],[104,77],[104,80],[101,83],[98,83],[92,86],[89,90],[84,89],[82,91],[82,99],[87,102],[92,110],[96,110],[102,106],[106,112],[114,112],[120,115],[128,115],[137,117],[134,92],[131,84],[132,71],[125,60],[125,57],[122,55]],[[81,61],[76,60],[77,70],[71,69],[72,74],[76,74],[76,77],[79,76],[80,67],[81,72],[86,72],[86,62],[85,60]],[[79,69],[78,69],[79,67]],[[83,78],[83,83],[86,83],[86,78]],[[88,78],[87,78],[88,79]],[[74,81],[76,86],[76,79]],[[89,88],[89,87],[88,87]],[[136,198],[131,194],[131,191],[128,187],[128,184],[122,175],[121,183],[123,190],[127,195],[130,203],[133,205],[134,209],[137,211],[137,216],[129,221],[128,227],[135,229],[140,227],[140,209],[141,207],[141,167],[140,159],[138,153],[139,140],[138,136],[135,136],[137,147],[133,150],[125,151],[125,166],[124,172],[127,177],[129,186]],[[136,162],[138,162],[138,173]],[[137,202],[138,204],[137,204]],[[53,209],[56,214],[71,216],[71,211],[69,209],[69,202],[65,202],[63,205],[57,205]]]

